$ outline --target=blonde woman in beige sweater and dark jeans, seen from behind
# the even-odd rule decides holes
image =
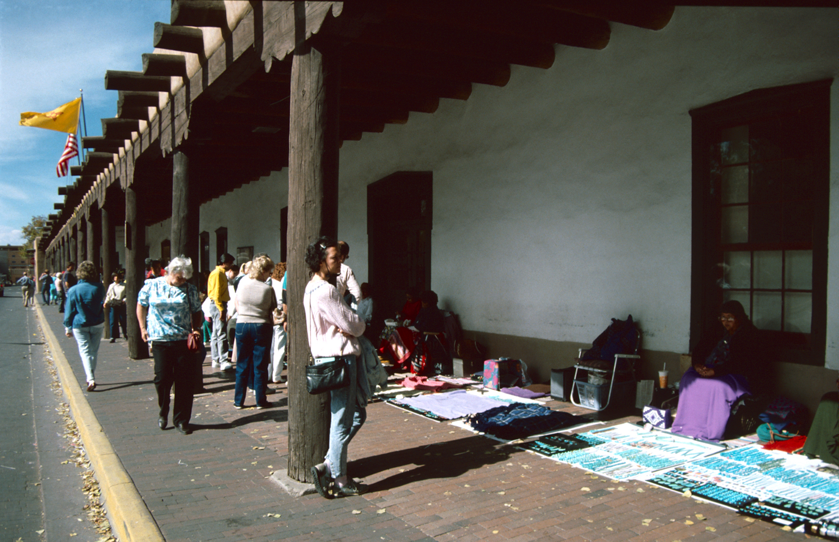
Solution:
[[[277,296],[265,281],[274,271],[274,262],[259,255],[250,262],[248,276],[236,290],[236,393],[233,407],[244,407],[248,382],[253,379],[257,408],[268,408],[268,362]]]

